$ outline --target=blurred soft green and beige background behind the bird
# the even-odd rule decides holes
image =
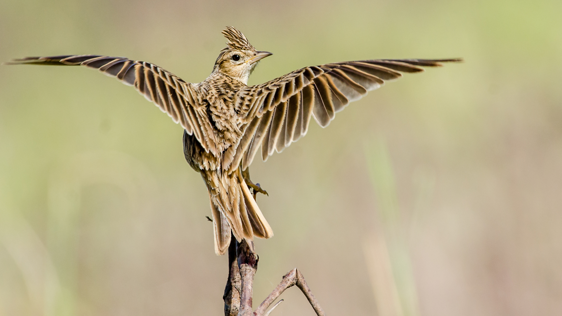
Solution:
[[[105,54],[200,82],[226,25],[303,66],[464,57],[340,112],[252,179],[257,306],[298,267],[329,315],[562,314],[562,2],[2,0],[0,60]],[[0,315],[221,315],[227,258],[182,129],[80,67],[0,67]],[[296,288],[272,315],[314,315]]]

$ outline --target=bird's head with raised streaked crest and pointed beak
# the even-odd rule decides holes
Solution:
[[[219,57],[216,58],[213,72],[219,71],[239,82],[248,84],[248,77],[257,62],[273,54],[257,51],[244,34],[232,26],[227,26],[223,30],[223,34],[228,39],[227,47],[220,51]]]

